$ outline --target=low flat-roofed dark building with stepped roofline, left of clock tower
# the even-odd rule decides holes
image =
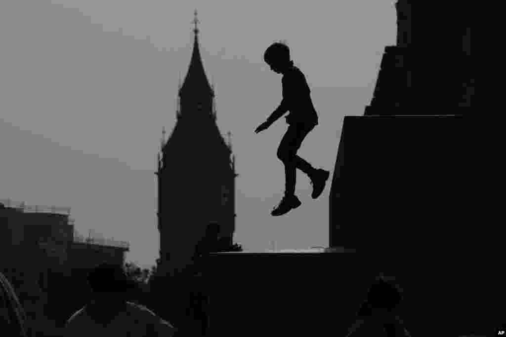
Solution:
[[[0,249],[11,256],[10,265],[61,273],[72,268],[92,268],[104,260],[124,262],[129,244],[80,235],[74,229],[70,208],[10,204],[0,204]]]

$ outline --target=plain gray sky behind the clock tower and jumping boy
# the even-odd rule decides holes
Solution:
[[[316,4],[316,5],[315,5]],[[154,264],[155,156],[175,124],[178,79],[193,43],[193,10],[218,126],[232,132],[239,177],[235,242],[245,250],[328,245],[328,192],[271,217],[284,188],[281,76],[263,64],[284,39],[306,75],[320,125],[300,155],[332,173],[345,115],[371,99],[383,49],[395,44],[392,0],[0,2],[0,199],[68,206],[86,234],[128,240],[127,260]]]

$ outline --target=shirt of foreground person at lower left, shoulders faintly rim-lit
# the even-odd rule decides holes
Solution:
[[[145,306],[132,302],[126,304],[126,310],[121,311],[105,326],[96,323],[86,311],[86,307],[81,308],[68,319],[65,336],[172,337],[176,333],[177,329],[174,326],[156,316]]]

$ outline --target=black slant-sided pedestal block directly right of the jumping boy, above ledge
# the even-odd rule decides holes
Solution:
[[[416,253],[469,244],[473,157],[465,131],[461,116],[345,117],[330,245]]]

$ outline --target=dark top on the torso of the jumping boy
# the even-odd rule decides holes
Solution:
[[[311,100],[311,89],[302,71],[296,66],[291,66],[283,74],[281,84],[283,87],[281,106],[290,111],[286,116],[286,122],[317,125],[318,115]]]

